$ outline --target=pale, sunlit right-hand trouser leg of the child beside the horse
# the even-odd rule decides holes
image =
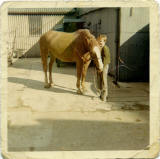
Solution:
[[[107,64],[103,68],[103,87],[101,92],[101,99],[103,101],[106,101],[106,99],[108,98],[108,79],[107,79],[108,69],[109,69],[109,64]]]

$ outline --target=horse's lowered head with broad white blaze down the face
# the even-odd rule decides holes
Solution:
[[[88,51],[90,52],[90,56],[93,59],[93,62],[96,65],[96,68],[99,72],[103,71],[103,62],[101,58],[101,49],[96,40],[96,38],[88,31],[87,36],[85,37]]]

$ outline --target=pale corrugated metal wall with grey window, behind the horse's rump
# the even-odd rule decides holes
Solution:
[[[63,18],[64,15],[9,14],[9,54],[14,52],[18,56],[25,54],[26,57],[39,57],[40,36],[51,29],[62,27]]]

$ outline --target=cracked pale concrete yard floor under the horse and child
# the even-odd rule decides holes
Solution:
[[[44,88],[40,58],[8,68],[8,150],[139,150],[149,144],[149,85],[109,78],[102,102],[89,68],[86,95],[76,94],[74,66],[53,68],[55,86]]]

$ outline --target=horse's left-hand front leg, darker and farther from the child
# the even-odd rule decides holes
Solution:
[[[78,61],[76,63],[76,68],[77,68],[77,83],[76,83],[77,93],[83,94],[80,88],[80,80],[81,80],[81,74],[82,74],[82,62],[81,61]]]

